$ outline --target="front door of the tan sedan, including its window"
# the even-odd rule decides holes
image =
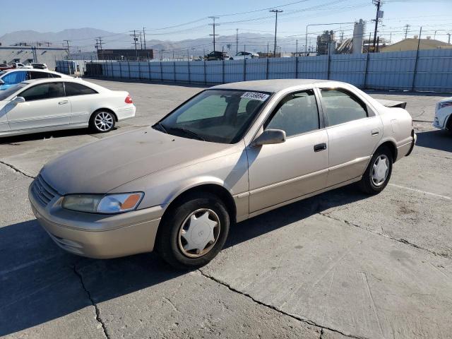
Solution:
[[[284,203],[326,186],[328,135],[313,90],[281,100],[263,129],[282,129],[286,141],[248,147],[249,212]]]

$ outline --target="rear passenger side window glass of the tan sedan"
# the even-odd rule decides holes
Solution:
[[[321,93],[329,126],[367,117],[365,105],[345,91],[323,89]]]

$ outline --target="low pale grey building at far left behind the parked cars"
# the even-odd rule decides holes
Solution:
[[[0,63],[12,64],[13,62],[20,62],[28,65],[32,62],[40,62],[47,64],[49,69],[55,69],[55,61],[66,59],[66,49],[61,47],[49,46],[0,46]]]

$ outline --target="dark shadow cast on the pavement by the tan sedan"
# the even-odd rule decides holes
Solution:
[[[347,186],[278,208],[233,225],[225,248],[367,197]],[[83,312],[93,316],[94,311],[86,307],[148,288],[152,295],[165,288],[159,284],[187,273],[172,269],[155,253],[109,260],[67,254],[36,220],[0,227],[0,336],[68,315],[60,321],[85,322],[79,319]]]

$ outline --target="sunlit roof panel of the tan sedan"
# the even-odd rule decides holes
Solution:
[[[318,85],[319,83],[338,83],[338,81],[329,81],[321,79],[271,79],[241,81],[239,83],[225,83],[213,86],[215,90],[255,90],[258,92],[277,93],[280,90],[297,86]]]

